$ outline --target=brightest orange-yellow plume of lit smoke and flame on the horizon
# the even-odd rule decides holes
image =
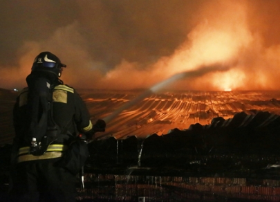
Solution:
[[[139,64],[122,62],[108,77],[104,78],[104,86],[110,80],[118,82],[117,75],[122,75],[127,70],[129,77],[122,78],[120,86],[138,88],[139,84],[149,88],[155,82],[166,80],[171,75],[180,72],[196,70],[200,66],[211,66],[212,64],[225,64],[233,69],[225,72],[209,72],[194,80],[185,80],[184,84],[175,85],[176,89],[196,89],[214,91],[232,91],[240,89],[245,80],[245,73],[240,66],[240,50],[252,44],[252,34],[245,23],[245,8],[238,3],[232,7],[224,8],[225,18],[207,19],[202,21],[191,33],[187,40],[169,57],[161,57],[157,62],[149,66],[149,71],[140,71]],[[237,66],[236,66],[237,65]],[[141,76],[140,79],[136,77]],[[126,84],[124,84],[124,82]],[[118,82],[119,83],[119,82]],[[107,87],[109,88],[109,86]]]

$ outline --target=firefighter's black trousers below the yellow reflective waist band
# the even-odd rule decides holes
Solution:
[[[77,178],[62,167],[57,160],[30,160],[18,163],[12,191],[12,201],[74,202]]]

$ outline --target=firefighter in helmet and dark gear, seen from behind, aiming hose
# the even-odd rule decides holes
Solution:
[[[80,95],[60,80],[63,68],[53,53],[39,53],[17,97],[12,201],[75,201],[77,173],[88,157],[85,140],[106,127],[103,120],[92,125]]]

